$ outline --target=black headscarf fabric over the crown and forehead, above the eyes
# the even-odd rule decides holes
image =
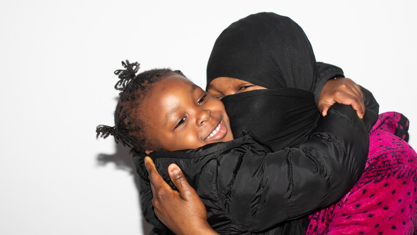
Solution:
[[[232,23],[214,43],[207,85],[233,77],[268,89],[311,91],[316,59],[301,27],[286,16],[257,13]]]

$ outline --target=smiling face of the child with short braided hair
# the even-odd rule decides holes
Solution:
[[[148,134],[164,150],[194,149],[233,140],[223,103],[179,75],[155,84],[143,111]]]

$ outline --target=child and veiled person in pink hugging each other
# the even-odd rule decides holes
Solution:
[[[123,65],[115,126],[98,126],[97,135],[131,147],[153,233],[415,232],[408,120],[378,115],[371,92],[317,63],[290,18],[258,13],[226,28],[208,61],[206,90],[180,71],[136,75],[139,64]],[[145,156],[173,189],[196,190],[206,213],[199,230],[175,221],[197,220],[191,211],[158,211],[156,171],[146,158],[149,181]],[[168,166],[181,169],[180,185]]]

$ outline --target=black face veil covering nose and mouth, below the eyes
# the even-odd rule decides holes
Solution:
[[[234,138],[249,130],[274,151],[303,143],[319,117],[313,95],[301,89],[254,90],[222,101]]]

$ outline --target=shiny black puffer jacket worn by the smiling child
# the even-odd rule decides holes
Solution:
[[[336,104],[299,148],[272,153],[256,138],[245,135],[195,150],[156,151],[150,156],[171,186],[169,164],[182,169],[217,232],[244,234],[268,229],[265,234],[284,234],[282,228],[274,227],[327,207],[349,192],[362,174],[368,148],[363,121],[352,107]],[[141,187],[141,196],[142,202],[151,199],[150,188]],[[142,204],[148,222],[163,228],[149,202]]]

